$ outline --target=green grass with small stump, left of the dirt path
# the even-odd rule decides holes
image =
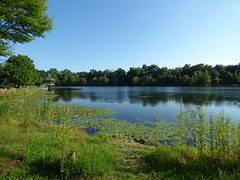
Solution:
[[[113,170],[116,150],[108,141],[98,142],[72,126],[1,123],[0,129],[0,156],[21,161],[19,177],[91,177]],[[69,156],[72,150],[75,160]]]

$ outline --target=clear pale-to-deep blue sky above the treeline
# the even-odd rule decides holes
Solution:
[[[17,44],[37,69],[240,63],[239,0],[49,0],[54,30]]]

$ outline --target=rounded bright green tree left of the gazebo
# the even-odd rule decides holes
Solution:
[[[11,56],[3,68],[8,83],[15,85],[34,85],[37,73],[33,60],[28,56]]]

